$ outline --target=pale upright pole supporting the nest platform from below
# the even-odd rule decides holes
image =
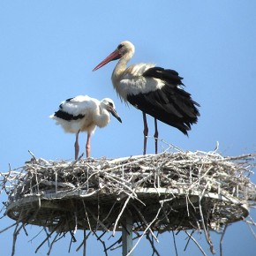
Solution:
[[[126,216],[122,230],[123,256],[126,256],[132,250],[132,216]],[[129,256],[132,256],[131,253]]]

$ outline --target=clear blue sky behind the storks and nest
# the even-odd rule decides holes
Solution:
[[[37,157],[71,160],[74,135],[65,134],[49,115],[60,102],[79,94],[112,98],[123,120],[120,124],[112,118],[108,127],[96,130],[93,157],[142,154],[142,115],[120,102],[113,90],[110,76],[115,64],[92,72],[124,40],[136,48],[131,64],[151,62],[177,70],[185,90],[201,105],[199,123],[192,126],[189,138],[159,124],[160,139],[191,151],[213,150],[219,141],[223,155],[255,152],[255,11],[253,0],[0,1],[0,170],[7,171],[9,163],[12,168],[22,166],[30,158],[28,149]],[[153,121],[148,117],[151,136]],[[80,135],[81,151],[86,137]],[[153,139],[147,152],[154,153]],[[255,183],[256,177],[252,180]],[[255,213],[252,216],[256,218]],[[0,220],[0,230],[10,223]],[[36,234],[37,229],[28,231]],[[11,234],[1,234],[5,255],[11,252]],[[20,235],[17,256],[34,255],[41,240],[29,243],[31,238]],[[203,235],[198,238],[209,253]],[[214,235],[217,252],[219,238]],[[67,252],[69,241],[60,241],[51,255],[82,255],[75,246]],[[177,237],[178,255],[199,255],[192,243],[183,252],[185,243],[183,236]],[[251,256],[256,250],[245,223],[232,225],[223,243],[225,255]],[[161,236],[158,248],[162,255],[175,253],[170,234]],[[104,255],[92,238],[88,255],[95,255],[95,250]],[[46,252],[42,249],[38,255]],[[139,245],[135,255],[139,253],[151,255],[147,242]]]

